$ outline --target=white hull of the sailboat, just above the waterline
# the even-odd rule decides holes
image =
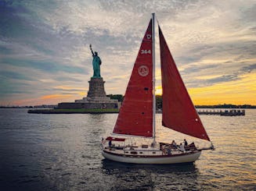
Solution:
[[[175,154],[170,156],[128,156],[128,155],[117,155],[111,154],[103,150],[103,157],[111,161],[124,162],[124,163],[134,163],[134,164],[175,164],[175,163],[186,163],[196,161],[201,154],[198,150],[194,153],[189,154]]]

